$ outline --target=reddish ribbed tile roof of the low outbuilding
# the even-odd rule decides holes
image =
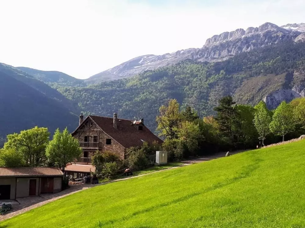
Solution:
[[[63,176],[56,167],[0,167],[0,176]]]

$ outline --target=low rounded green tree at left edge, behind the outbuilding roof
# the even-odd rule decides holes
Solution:
[[[23,154],[14,148],[0,149],[0,167],[22,167],[25,165]]]

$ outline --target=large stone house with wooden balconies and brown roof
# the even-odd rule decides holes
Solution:
[[[88,115],[85,119],[81,114],[79,126],[72,132],[72,136],[78,139],[83,150],[75,164],[70,164],[65,169],[75,178],[89,174],[89,170],[95,170],[90,164],[91,157],[97,150],[110,151],[125,159],[125,152],[129,147],[142,146],[143,142],[163,143],[144,125],[143,118],[139,121],[119,119],[117,113],[113,114],[113,118]],[[76,174],[80,174],[80,170],[84,172],[81,175]]]

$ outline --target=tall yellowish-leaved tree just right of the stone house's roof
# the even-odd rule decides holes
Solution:
[[[157,130],[161,131],[160,136],[166,136],[170,139],[177,138],[177,129],[181,122],[179,106],[176,99],[170,99],[167,106],[162,105],[160,107],[160,114],[156,118]]]

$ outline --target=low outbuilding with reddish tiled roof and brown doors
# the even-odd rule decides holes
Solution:
[[[57,193],[63,172],[56,167],[0,167],[0,200]]]

